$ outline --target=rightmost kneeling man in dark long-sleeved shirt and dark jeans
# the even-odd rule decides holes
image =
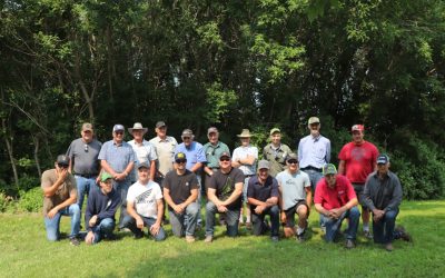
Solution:
[[[375,244],[382,244],[386,250],[393,251],[394,239],[411,240],[409,235],[403,228],[395,229],[403,192],[398,177],[389,171],[387,155],[378,156],[377,171],[368,176],[363,195],[366,207],[373,211]]]

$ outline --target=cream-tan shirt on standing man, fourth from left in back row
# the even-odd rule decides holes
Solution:
[[[178,142],[170,136],[167,136],[164,140],[159,137],[155,137],[149,142],[155,146],[156,155],[158,157],[158,160],[156,160],[156,169],[166,176],[167,172],[174,169],[172,161]]]

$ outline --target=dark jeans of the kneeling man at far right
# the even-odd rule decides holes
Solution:
[[[385,212],[378,222],[373,221],[374,242],[390,244],[397,237],[394,232],[396,226],[397,210]]]

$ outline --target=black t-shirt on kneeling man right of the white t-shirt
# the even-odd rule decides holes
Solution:
[[[176,205],[185,202],[190,197],[190,191],[199,188],[196,175],[189,170],[181,176],[176,170],[169,171],[164,179],[162,187],[170,190],[170,197]],[[170,206],[168,209],[172,210]]]

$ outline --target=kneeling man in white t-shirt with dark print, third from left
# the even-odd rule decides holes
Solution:
[[[127,212],[123,218],[123,227],[129,228],[135,238],[144,237],[144,227],[156,241],[166,239],[166,232],[161,227],[164,215],[162,192],[155,181],[150,180],[150,167],[147,162],[138,165],[139,180],[128,189]]]

